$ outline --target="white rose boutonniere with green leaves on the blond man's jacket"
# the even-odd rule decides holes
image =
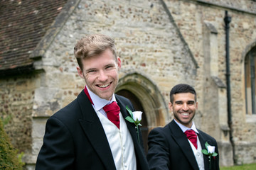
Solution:
[[[128,120],[130,123],[134,123],[137,128],[137,134],[138,134],[138,141],[139,141],[139,125],[141,126],[140,122],[142,121],[142,111],[134,111],[132,112],[131,109],[126,106],[127,111],[131,116],[127,116],[125,119]]]

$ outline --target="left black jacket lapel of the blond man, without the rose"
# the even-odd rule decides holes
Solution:
[[[82,111],[82,118],[79,121],[87,139],[90,140],[92,147],[94,147],[103,164],[105,164],[106,169],[115,169],[107,136],[100,119],[97,117],[97,113],[95,113],[84,91],[79,94],[78,103]]]

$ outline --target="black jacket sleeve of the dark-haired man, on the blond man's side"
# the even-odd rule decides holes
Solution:
[[[169,147],[166,141],[166,137],[163,132],[161,132],[161,128],[154,128],[149,133],[149,150],[146,158],[149,162],[150,169],[169,170]]]

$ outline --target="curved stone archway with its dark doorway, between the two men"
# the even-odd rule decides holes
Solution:
[[[137,111],[142,114],[142,136],[147,152],[147,135],[152,128],[164,126],[169,111],[157,86],[141,74],[132,73],[119,79],[116,94],[132,101]]]

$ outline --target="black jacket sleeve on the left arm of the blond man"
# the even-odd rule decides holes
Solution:
[[[73,169],[73,146],[73,137],[68,128],[57,118],[49,118],[36,170]]]

